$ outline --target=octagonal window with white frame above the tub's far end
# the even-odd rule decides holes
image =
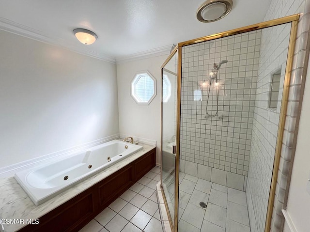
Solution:
[[[138,104],[150,104],[156,96],[156,80],[147,71],[137,73],[131,82],[131,96]]]

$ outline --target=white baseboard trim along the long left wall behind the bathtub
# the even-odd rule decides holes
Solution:
[[[57,152],[53,152],[47,155],[43,155],[31,160],[25,160],[19,163],[12,164],[10,166],[6,166],[3,168],[0,168],[0,178],[10,177],[13,176],[16,172],[23,171],[26,169],[30,169],[34,167],[35,165],[44,165],[51,160],[60,160],[67,156],[73,155],[74,153],[77,153],[79,151],[85,150],[87,148],[93,147],[95,145],[103,144],[106,142],[109,142],[113,139],[118,139],[120,137],[119,134],[110,135],[101,139],[93,140],[91,142],[81,144],[78,146],[70,147],[64,150],[60,150]]]

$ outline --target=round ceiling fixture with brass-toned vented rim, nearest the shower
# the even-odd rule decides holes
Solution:
[[[197,10],[197,19],[203,23],[215,22],[225,17],[233,7],[233,0],[206,0]]]

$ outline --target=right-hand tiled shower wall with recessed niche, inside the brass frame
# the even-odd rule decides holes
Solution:
[[[286,24],[262,30],[246,190],[253,232],[264,231],[265,226],[290,29],[291,24]],[[279,72],[278,105],[277,108],[268,108],[272,75]]]

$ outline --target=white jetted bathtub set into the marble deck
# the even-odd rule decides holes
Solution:
[[[16,173],[14,177],[33,203],[39,205],[142,149],[140,145],[113,140],[66,159]]]

